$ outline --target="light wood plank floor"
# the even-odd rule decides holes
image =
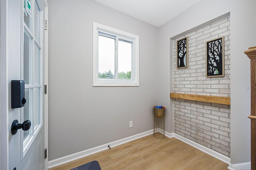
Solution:
[[[50,170],[70,170],[92,160],[102,170],[227,170],[228,164],[176,139],[149,135]]]

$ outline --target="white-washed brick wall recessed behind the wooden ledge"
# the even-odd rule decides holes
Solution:
[[[206,78],[205,42],[224,36],[225,76]],[[188,37],[188,68],[176,68],[176,40]],[[173,92],[230,97],[230,17],[173,40]],[[230,157],[230,106],[174,99],[174,132]]]

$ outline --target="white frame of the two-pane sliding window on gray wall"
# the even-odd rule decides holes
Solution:
[[[115,79],[98,78],[98,35],[107,33],[118,39],[132,42],[132,79],[118,79],[118,54],[115,58]],[[118,48],[118,47],[116,47]],[[93,22],[93,86],[139,86],[139,36]]]

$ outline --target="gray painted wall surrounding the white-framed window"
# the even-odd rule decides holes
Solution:
[[[93,1],[48,4],[49,160],[153,129],[157,27]],[[92,86],[93,22],[139,35],[139,87]]]

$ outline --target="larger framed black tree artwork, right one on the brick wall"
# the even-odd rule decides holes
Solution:
[[[206,41],[206,77],[224,76],[224,37]]]

